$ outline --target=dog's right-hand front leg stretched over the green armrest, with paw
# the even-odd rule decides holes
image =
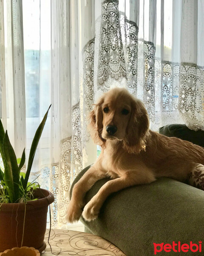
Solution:
[[[142,177],[143,176],[143,177]],[[113,192],[117,192],[121,189],[125,189],[129,186],[151,183],[155,180],[153,174],[149,176],[144,175],[124,175],[123,177],[116,178],[114,180],[109,180],[106,182],[98,191],[96,195],[91,199],[91,201],[86,204],[82,212],[82,216],[87,221],[94,220],[99,215],[99,210],[102,207],[105,199],[111,195]]]

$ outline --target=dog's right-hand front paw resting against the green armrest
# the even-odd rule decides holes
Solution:
[[[88,204],[85,205],[82,212],[82,216],[86,221],[93,221],[99,215],[100,207],[96,204],[95,200],[91,200]]]

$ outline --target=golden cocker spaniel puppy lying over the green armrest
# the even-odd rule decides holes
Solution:
[[[149,129],[144,104],[125,89],[114,88],[90,113],[92,137],[102,151],[96,162],[74,185],[67,221],[94,220],[105,199],[113,192],[157,177],[185,181],[199,164],[204,165],[204,148]],[[111,177],[84,207],[83,198],[94,183]],[[82,209],[84,207],[84,209]]]

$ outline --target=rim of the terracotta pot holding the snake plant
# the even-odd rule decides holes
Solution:
[[[13,211],[25,211],[25,203],[26,203],[26,211],[48,207],[49,204],[54,202],[54,195],[47,189],[37,188],[35,189],[35,193],[40,197],[42,193],[45,195],[44,198],[40,198],[34,201],[26,201],[23,203],[3,203],[0,204],[0,213],[1,212],[13,212]]]

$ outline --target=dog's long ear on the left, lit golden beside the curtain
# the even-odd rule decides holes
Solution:
[[[103,112],[102,104],[104,102],[104,97],[99,98],[98,102],[94,104],[94,109],[89,114],[89,127],[91,131],[91,137],[94,142],[100,145],[102,148],[105,146],[105,141],[102,138],[102,129],[103,129]]]

